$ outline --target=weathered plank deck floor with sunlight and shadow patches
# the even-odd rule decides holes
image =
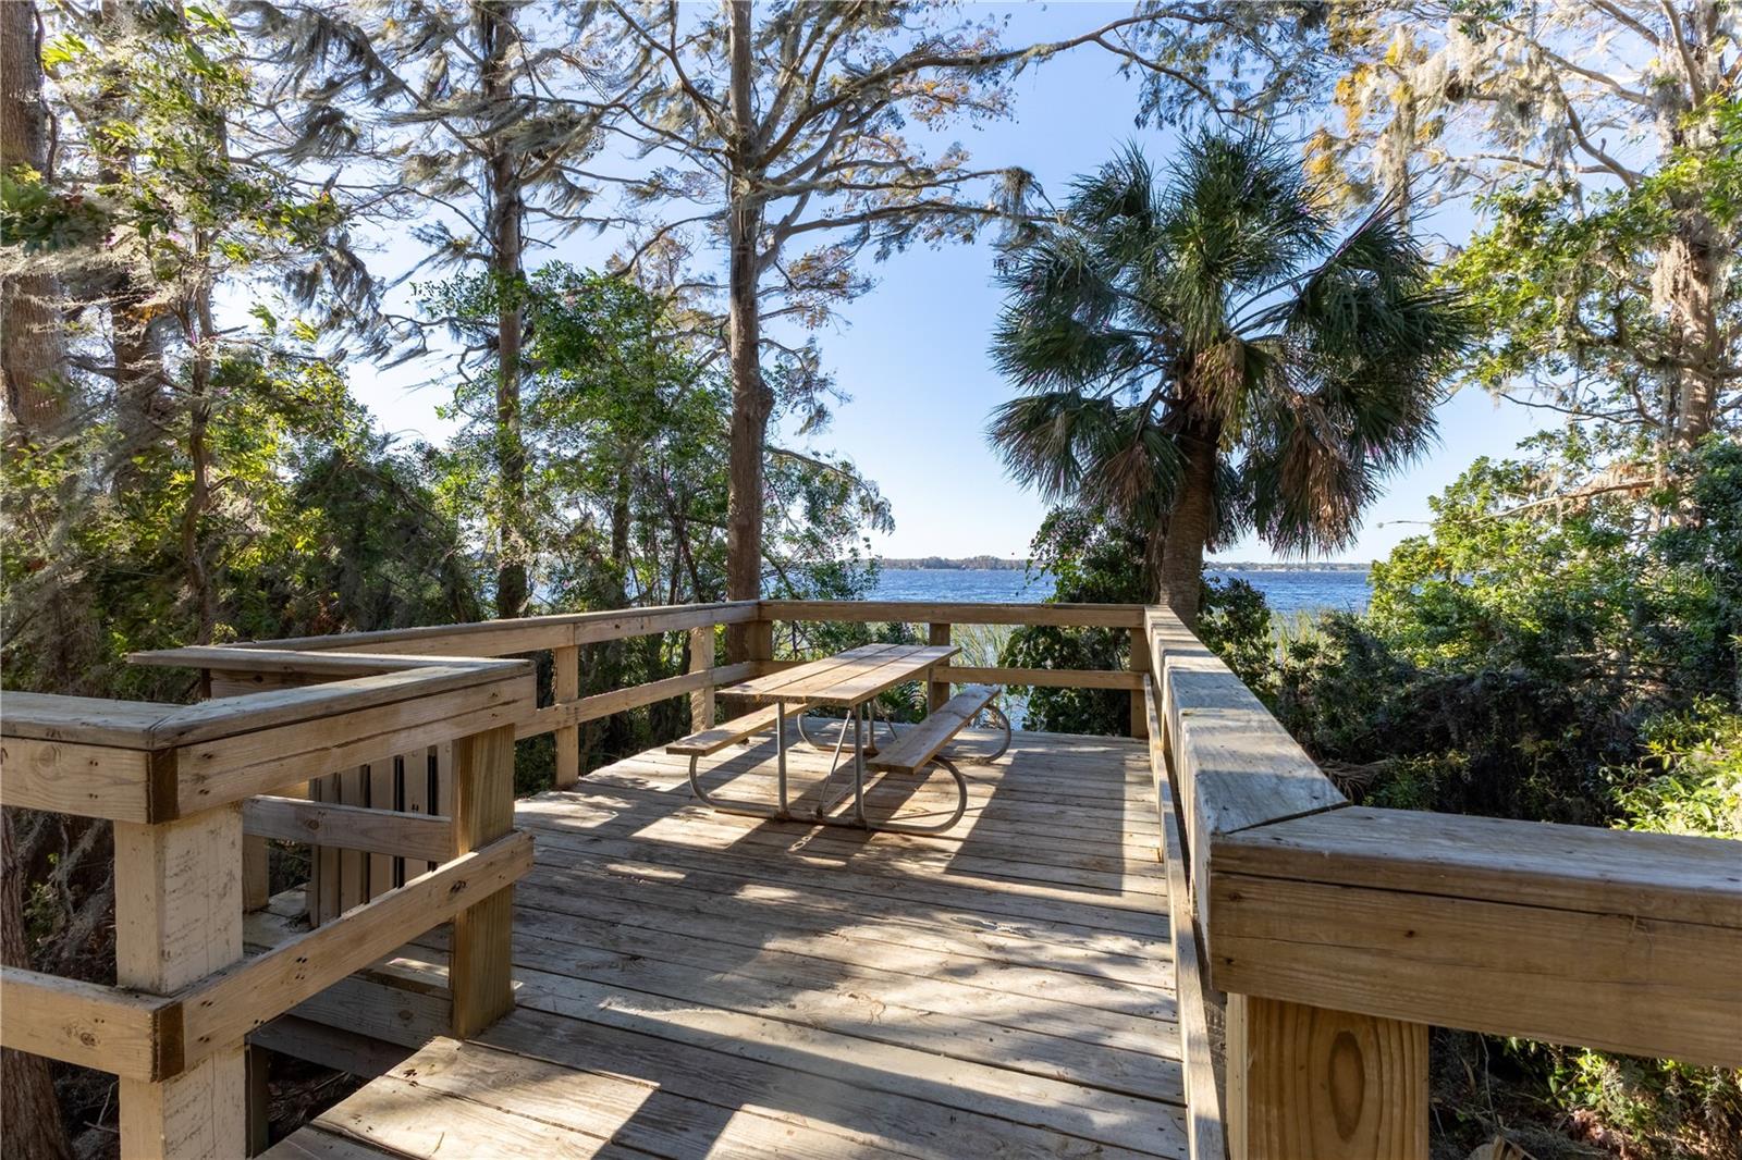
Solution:
[[[773,740],[704,759],[773,798]],[[519,803],[517,1008],[272,1157],[1183,1157],[1143,742],[1017,733],[939,838],[699,806],[643,752]],[[827,758],[793,751],[814,803]],[[948,779],[873,812],[946,808]],[[439,961],[442,932],[422,946]],[[409,954],[411,951],[408,951]]]

